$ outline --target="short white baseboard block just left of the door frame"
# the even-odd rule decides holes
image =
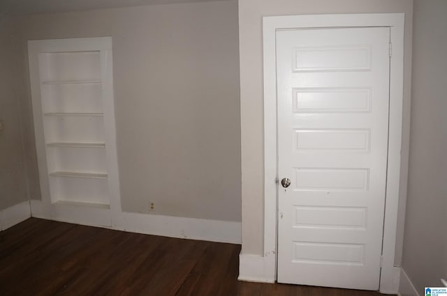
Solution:
[[[274,269],[274,256],[239,254],[239,276],[237,279],[240,281],[274,283]]]

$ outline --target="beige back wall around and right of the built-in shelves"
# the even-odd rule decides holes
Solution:
[[[27,84],[27,40],[112,36],[124,211],[149,213],[152,201],[151,214],[240,221],[237,1],[22,16],[17,27]]]

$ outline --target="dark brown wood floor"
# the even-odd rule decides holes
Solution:
[[[31,218],[0,233],[0,295],[376,296],[237,281],[240,245]]]

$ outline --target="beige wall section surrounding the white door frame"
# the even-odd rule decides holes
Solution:
[[[242,155],[242,253],[263,254],[263,45],[262,17],[334,13],[405,13],[404,130],[401,207],[404,212],[411,85],[411,0],[240,0],[240,101]],[[396,261],[400,263],[403,215],[399,217]]]

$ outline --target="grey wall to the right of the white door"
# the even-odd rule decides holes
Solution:
[[[422,295],[447,279],[447,1],[415,0],[402,268]]]

